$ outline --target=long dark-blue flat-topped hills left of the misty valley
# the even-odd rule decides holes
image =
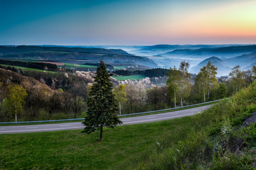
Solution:
[[[104,60],[106,64],[138,64],[146,67],[157,67],[157,64],[146,57],[130,55],[124,50],[82,47],[46,47],[46,46],[0,46],[0,58],[4,60],[40,60],[84,64]]]

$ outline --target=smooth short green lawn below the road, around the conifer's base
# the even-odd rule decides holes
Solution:
[[[0,135],[1,169],[134,169],[137,161],[155,152],[166,137],[188,125],[191,117],[105,129]]]

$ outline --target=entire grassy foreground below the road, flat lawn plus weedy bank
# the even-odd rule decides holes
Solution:
[[[191,117],[106,129],[0,135],[3,169],[253,169],[256,85]]]

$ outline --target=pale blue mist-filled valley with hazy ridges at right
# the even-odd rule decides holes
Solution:
[[[147,57],[158,67],[178,67],[181,61],[190,63],[189,72],[197,74],[207,62],[218,67],[218,76],[228,75],[231,68],[240,65],[251,69],[256,63],[256,45],[152,45],[102,46],[125,50],[133,55]]]

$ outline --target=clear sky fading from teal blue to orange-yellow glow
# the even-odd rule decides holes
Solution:
[[[255,0],[0,0],[0,45],[255,44]]]

